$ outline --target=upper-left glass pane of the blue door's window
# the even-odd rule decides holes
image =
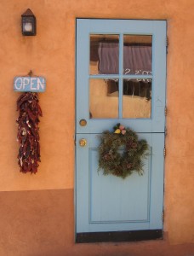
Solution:
[[[90,74],[118,73],[118,35],[90,35]]]

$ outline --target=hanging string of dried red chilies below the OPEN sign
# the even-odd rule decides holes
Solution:
[[[40,162],[39,116],[43,116],[37,93],[25,92],[17,100],[19,111],[18,141],[20,143],[18,164],[20,172],[36,173]]]

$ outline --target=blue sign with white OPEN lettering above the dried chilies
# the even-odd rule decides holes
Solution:
[[[15,77],[14,91],[43,92],[46,90],[46,79],[43,77]]]

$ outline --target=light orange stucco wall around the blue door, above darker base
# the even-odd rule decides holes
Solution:
[[[27,8],[37,17],[36,37],[20,32]],[[168,20],[164,230],[170,243],[194,243],[193,9],[193,0],[2,0],[0,190],[73,189],[76,17]],[[24,175],[16,160],[13,79],[31,69],[47,79],[47,90],[40,95],[42,163],[36,175]]]

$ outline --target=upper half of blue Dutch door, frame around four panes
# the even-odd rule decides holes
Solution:
[[[89,74],[90,70],[90,35],[119,35],[119,74]],[[124,74],[123,70],[123,37],[126,34],[151,35],[152,38],[152,71],[150,74]],[[126,62],[126,61],[125,61]],[[90,118],[89,81],[90,79],[117,79],[119,84],[118,117],[100,118],[100,122]],[[110,129],[123,118],[123,79],[152,79],[151,116],[147,119],[131,118],[130,127],[137,132],[164,132],[165,118],[165,82],[166,82],[166,21],[164,20],[84,20],[77,19],[77,133],[99,133]],[[101,86],[101,85],[100,85]],[[80,119],[87,120],[84,128],[79,125]],[[123,125],[128,119],[123,118]]]

